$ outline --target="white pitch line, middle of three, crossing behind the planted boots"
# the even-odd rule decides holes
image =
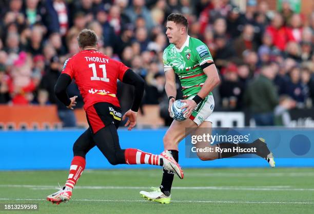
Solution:
[[[30,188],[35,190],[56,189],[56,186],[38,185],[0,185],[1,187]],[[148,189],[147,186],[76,186],[75,189]],[[291,188],[290,186],[175,186],[172,189],[198,190],[248,190],[248,191],[314,191],[311,188]]]

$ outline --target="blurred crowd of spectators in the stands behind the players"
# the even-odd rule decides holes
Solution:
[[[314,13],[298,14],[282,2],[281,11],[270,11],[265,1],[248,0],[242,12],[229,0],[3,0],[0,103],[57,104],[64,125],[75,125],[53,87],[64,61],[79,51],[78,32],[90,28],[101,52],[145,79],[143,105],[160,104],[168,121],[162,55],[168,45],[165,22],[175,12],[188,18],[189,35],[205,42],[219,69],[215,111],[249,108],[262,124],[274,110],[311,108]],[[258,93],[261,84],[270,92]],[[68,93],[79,94],[75,82]],[[118,97],[125,112],[132,88],[119,82]]]

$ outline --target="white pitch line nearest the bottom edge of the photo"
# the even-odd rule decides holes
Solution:
[[[45,201],[46,199],[8,199],[0,198],[0,201]],[[150,202],[146,200],[105,200],[105,199],[72,199],[71,201],[103,201],[103,202]],[[241,204],[314,204],[305,201],[171,201],[178,203],[241,203]]]

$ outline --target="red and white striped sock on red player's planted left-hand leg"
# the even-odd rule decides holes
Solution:
[[[70,166],[68,180],[65,186],[73,188],[85,169],[86,161],[81,156],[74,156]]]

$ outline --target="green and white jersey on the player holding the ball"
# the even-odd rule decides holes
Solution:
[[[201,40],[190,36],[180,50],[170,44],[164,50],[163,60],[165,72],[173,69],[178,74],[184,99],[202,89],[207,76],[201,65],[206,61],[213,61],[207,46]]]

